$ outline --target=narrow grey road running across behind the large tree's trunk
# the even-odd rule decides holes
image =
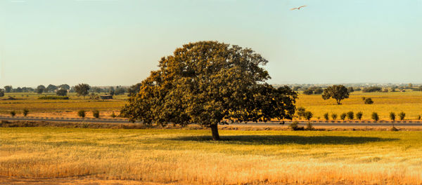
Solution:
[[[126,118],[46,118],[46,117],[23,117],[23,116],[16,116],[16,117],[8,117],[8,116],[1,116],[0,120],[4,121],[46,121],[46,122],[68,122],[68,123],[130,123]],[[306,125],[307,121],[299,121],[299,125]],[[135,123],[142,123],[137,121]],[[286,121],[285,124],[280,124],[280,122],[267,122],[267,123],[231,123],[230,125],[245,125],[245,126],[287,126],[290,124],[291,121]],[[334,121],[334,123],[328,121],[311,121],[312,125],[314,126],[347,126],[347,127],[365,127],[365,126],[390,126],[391,122],[387,121],[380,121],[378,123],[374,123],[371,121]],[[421,121],[397,121],[395,123],[397,126],[422,126]]]

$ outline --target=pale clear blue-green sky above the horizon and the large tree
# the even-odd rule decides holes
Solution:
[[[421,0],[0,0],[0,86],[132,85],[203,40],[260,53],[269,83],[421,83],[421,10]]]

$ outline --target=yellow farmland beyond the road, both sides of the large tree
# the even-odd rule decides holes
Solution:
[[[20,114],[23,109],[29,109],[32,116],[64,116],[75,117],[80,109],[101,111],[101,116],[109,116],[111,112],[116,114],[126,103],[127,95],[115,96],[113,100],[91,100],[87,97],[77,97],[75,93],[70,93],[70,100],[38,100],[39,96],[54,95],[37,93],[6,93],[0,100],[0,114],[8,115],[15,110]],[[7,100],[8,97],[17,100]],[[362,97],[371,97],[373,104],[364,104]],[[363,119],[371,120],[372,112],[377,112],[383,120],[389,120],[388,114],[391,111],[396,113],[404,111],[405,119],[415,120],[418,115],[422,115],[422,92],[408,91],[395,93],[351,93],[350,97],[343,100],[341,105],[335,104],[335,100],[323,100],[321,95],[299,95],[297,107],[305,107],[312,111],[312,119],[324,119],[323,115],[342,114],[347,111],[362,111]],[[91,116],[91,115],[88,115]]]

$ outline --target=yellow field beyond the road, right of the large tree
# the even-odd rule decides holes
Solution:
[[[364,104],[362,97],[371,97],[373,104]],[[398,114],[401,111],[406,113],[405,119],[415,120],[418,115],[422,116],[422,92],[408,91],[395,93],[362,93],[354,92],[350,97],[343,100],[341,105],[335,103],[335,100],[323,100],[321,95],[299,95],[297,107],[305,107],[312,111],[314,119],[320,117],[324,119],[324,114],[340,114],[347,111],[362,111],[363,119],[371,120],[372,112],[377,112],[381,119],[390,120],[390,112]]]

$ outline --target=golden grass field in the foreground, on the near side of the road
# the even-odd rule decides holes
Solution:
[[[0,175],[174,184],[422,184],[422,132],[0,128]]]

